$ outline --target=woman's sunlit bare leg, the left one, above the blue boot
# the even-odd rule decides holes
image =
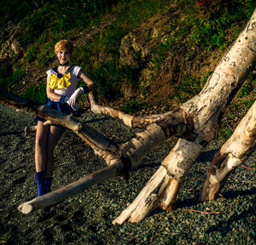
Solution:
[[[44,126],[44,122],[38,121],[35,145],[36,172],[45,170],[48,131],[49,126]]]

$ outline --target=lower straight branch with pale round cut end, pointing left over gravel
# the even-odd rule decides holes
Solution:
[[[102,168],[101,170],[85,176],[72,184],[66,185],[57,191],[52,191],[43,196],[36,197],[29,202],[23,202],[18,209],[23,214],[29,214],[35,210],[53,206],[63,202],[67,197],[71,197],[80,191],[84,191],[91,185],[95,185],[102,182],[104,179],[110,179],[119,175],[123,168],[124,166],[122,162],[115,162],[113,165],[108,166],[107,168]]]

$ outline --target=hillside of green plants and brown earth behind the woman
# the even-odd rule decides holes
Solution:
[[[70,39],[72,62],[97,83],[101,102],[130,113],[167,111],[197,94],[255,8],[253,0],[4,2],[0,87],[44,102],[54,45]],[[255,80],[236,95],[230,121],[253,105]]]

